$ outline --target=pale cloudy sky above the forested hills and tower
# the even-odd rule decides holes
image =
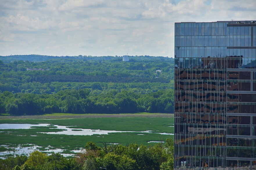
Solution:
[[[0,0],[0,56],[174,57],[175,22],[256,20],[256,0]]]

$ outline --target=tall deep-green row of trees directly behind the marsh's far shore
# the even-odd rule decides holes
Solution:
[[[133,90],[61,90],[56,94],[0,94],[0,112],[11,115],[44,113],[173,113],[173,89],[141,94]]]

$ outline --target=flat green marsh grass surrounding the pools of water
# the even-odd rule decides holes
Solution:
[[[45,119],[55,117],[55,119]],[[0,145],[18,145],[33,144],[41,146],[42,149],[49,145],[53,148],[64,149],[65,153],[84,147],[88,141],[95,142],[98,146],[106,143],[138,143],[144,145],[154,145],[149,141],[165,141],[167,138],[173,138],[173,135],[163,135],[158,133],[173,133],[174,118],[173,114],[70,114],[72,117],[84,118],[68,118],[65,114],[49,114],[41,115],[38,119],[28,119],[12,117],[8,115],[0,116],[0,124],[3,123],[28,123],[39,124],[47,123],[52,126],[37,126],[31,129],[6,129],[0,130]],[[9,117],[9,118],[6,118]],[[58,132],[53,125],[62,125],[75,129],[92,129],[92,130],[115,130],[115,131],[135,131],[135,132],[119,132],[104,135],[62,135],[62,134],[43,134],[38,132]],[[33,125],[31,125],[33,126]],[[142,133],[141,131],[153,131],[154,133]],[[75,130],[76,131],[76,130]],[[6,149],[0,147],[0,151]]]

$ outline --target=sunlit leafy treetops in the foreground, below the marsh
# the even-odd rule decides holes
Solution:
[[[10,156],[0,160],[0,170],[171,170],[173,169],[173,141],[167,139],[165,145],[158,143],[154,146],[119,144],[97,147],[88,142],[86,151],[78,153],[76,158],[67,159],[59,153],[49,156],[34,151],[27,156]]]

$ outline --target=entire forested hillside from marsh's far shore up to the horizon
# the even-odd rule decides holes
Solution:
[[[23,58],[23,60],[22,60]],[[174,59],[0,56],[0,113],[173,112]]]

